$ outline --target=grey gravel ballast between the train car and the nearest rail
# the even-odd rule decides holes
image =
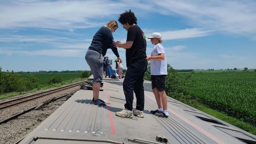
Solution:
[[[65,93],[71,93],[76,90],[79,90],[79,86],[68,89],[68,91],[65,90],[65,92],[63,91],[55,93],[54,95],[57,98]],[[58,109],[65,101],[66,97],[63,97],[49,103],[41,109],[29,111],[28,113],[23,114],[18,118],[1,124],[0,143],[15,143],[21,138],[25,137],[39,124],[41,124],[48,116],[50,116],[56,109]]]

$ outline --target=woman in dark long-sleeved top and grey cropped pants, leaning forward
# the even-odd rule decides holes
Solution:
[[[106,106],[105,102],[99,99],[100,84],[103,75],[103,56],[106,55],[107,49],[111,49],[117,59],[121,60],[117,47],[114,44],[112,33],[116,31],[118,24],[115,20],[107,22],[106,26],[101,27],[93,36],[92,43],[85,54],[85,60],[90,66],[93,74],[93,103],[94,105]]]

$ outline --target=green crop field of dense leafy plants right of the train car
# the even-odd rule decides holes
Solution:
[[[256,72],[218,71],[179,73],[190,75],[187,94],[210,105],[223,106],[256,117]]]

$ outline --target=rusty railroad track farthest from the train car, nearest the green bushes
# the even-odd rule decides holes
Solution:
[[[67,86],[59,87],[57,89],[53,89],[53,90],[49,90],[49,91],[45,91],[45,92],[41,92],[41,93],[36,93],[36,94],[28,95],[27,97],[22,97],[22,98],[10,100],[10,101],[1,102],[0,103],[0,110],[8,108],[8,107],[19,105],[20,103],[23,103],[23,102],[27,102],[27,101],[30,101],[30,100],[38,99],[38,98],[44,97],[45,95],[49,95],[49,94],[52,94],[52,93],[55,93],[55,92],[63,91],[63,90],[66,90],[66,89],[70,89],[71,87],[75,87],[75,86],[81,85],[82,83],[84,83],[84,82],[70,84],[70,85],[67,85]]]

